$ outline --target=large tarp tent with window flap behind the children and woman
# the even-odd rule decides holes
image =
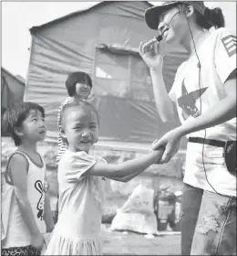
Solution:
[[[100,116],[99,141],[151,143],[179,125],[162,123],[149,69],[140,59],[140,41],[156,36],[144,21],[146,1],[108,1],[32,27],[25,101],[46,109],[47,139],[56,141],[57,111],[67,97],[69,72],[83,70],[93,79]],[[164,80],[168,91],[184,51],[167,48]],[[159,85],[158,85],[159,86]]]

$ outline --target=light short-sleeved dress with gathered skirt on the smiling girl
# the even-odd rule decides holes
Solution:
[[[45,255],[102,255],[104,180],[87,176],[103,158],[67,150],[58,164],[59,213]]]

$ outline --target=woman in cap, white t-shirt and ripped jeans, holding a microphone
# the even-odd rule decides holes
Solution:
[[[223,157],[227,142],[236,145],[236,37],[224,28],[222,10],[202,1],[165,2],[149,8],[145,18],[163,37],[160,44],[152,40],[139,46],[160,118],[171,120],[176,109],[182,123],[154,142],[153,149],[165,146],[161,163],[168,162],[180,139],[189,139],[181,254],[236,255],[236,172],[227,169]],[[162,77],[163,42],[189,53],[169,93]]]

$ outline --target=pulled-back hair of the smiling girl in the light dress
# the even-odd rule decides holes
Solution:
[[[92,111],[96,114],[97,120],[98,120],[98,125],[99,125],[99,118],[98,118],[98,111],[96,108],[90,104],[88,101],[77,101],[77,102],[70,102],[67,103],[65,106],[63,106],[63,109],[61,111],[61,129],[62,132],[65,132],[65,112],[70,109],[70,108],[75,108],[77,107],[79,110],[88,110]]]

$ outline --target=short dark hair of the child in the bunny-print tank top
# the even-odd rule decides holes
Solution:
[[[45,117],[44,108],[34,102],[15,102],[5,110],[2,119],[2,130],[13,138],[15,145],[20,145],[21,140],[14,130],[22,125],[32,110],[41,112]]]

